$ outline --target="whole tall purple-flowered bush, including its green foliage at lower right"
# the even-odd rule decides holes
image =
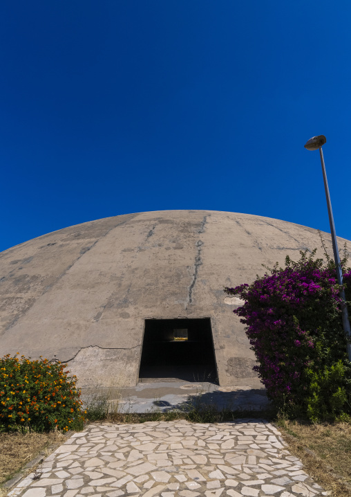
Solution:
[[[252,284],[225,288],[245,300],[234,313],[246,325],[267,396],[285,413],[312,421],[351,414],[340,287],[333,262],[314,259],[315,253],[301,251],[297,262],[287,256],[285,267],[276,264]],[[344,283],[350,300],[351,272],[345,268]]]

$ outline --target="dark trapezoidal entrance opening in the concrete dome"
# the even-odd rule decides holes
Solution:
[[[139,379],[216,383],[210,318],[146,319]]]

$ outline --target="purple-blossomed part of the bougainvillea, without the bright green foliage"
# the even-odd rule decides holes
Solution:
[[[234,313],[256,354],[254,370],[276,404],[298,404],[308,395],[307,368],[318,371],[330,357],[347,359],[335,270],[313,255],[301,253],[297,262],[287,257],[285,268],[225,289],[245,300]],[[344,282],[351,300],[351,271]]]

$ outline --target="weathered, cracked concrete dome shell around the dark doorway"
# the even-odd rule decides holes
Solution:
[[[220,385],[260,388],[231,312],[238,302],[222,288],[320,246],[312,228],[202,210],[122,215],[49,233],[0,254],[0,353],[68,361],[82,387],[135,386],[145,318],[209,317]]]

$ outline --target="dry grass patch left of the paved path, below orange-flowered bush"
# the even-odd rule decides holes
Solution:
[[[0,433],[0,484],[51,444],[66,440],[61,433]],[[1,496],[1,494],[0,494]]]

